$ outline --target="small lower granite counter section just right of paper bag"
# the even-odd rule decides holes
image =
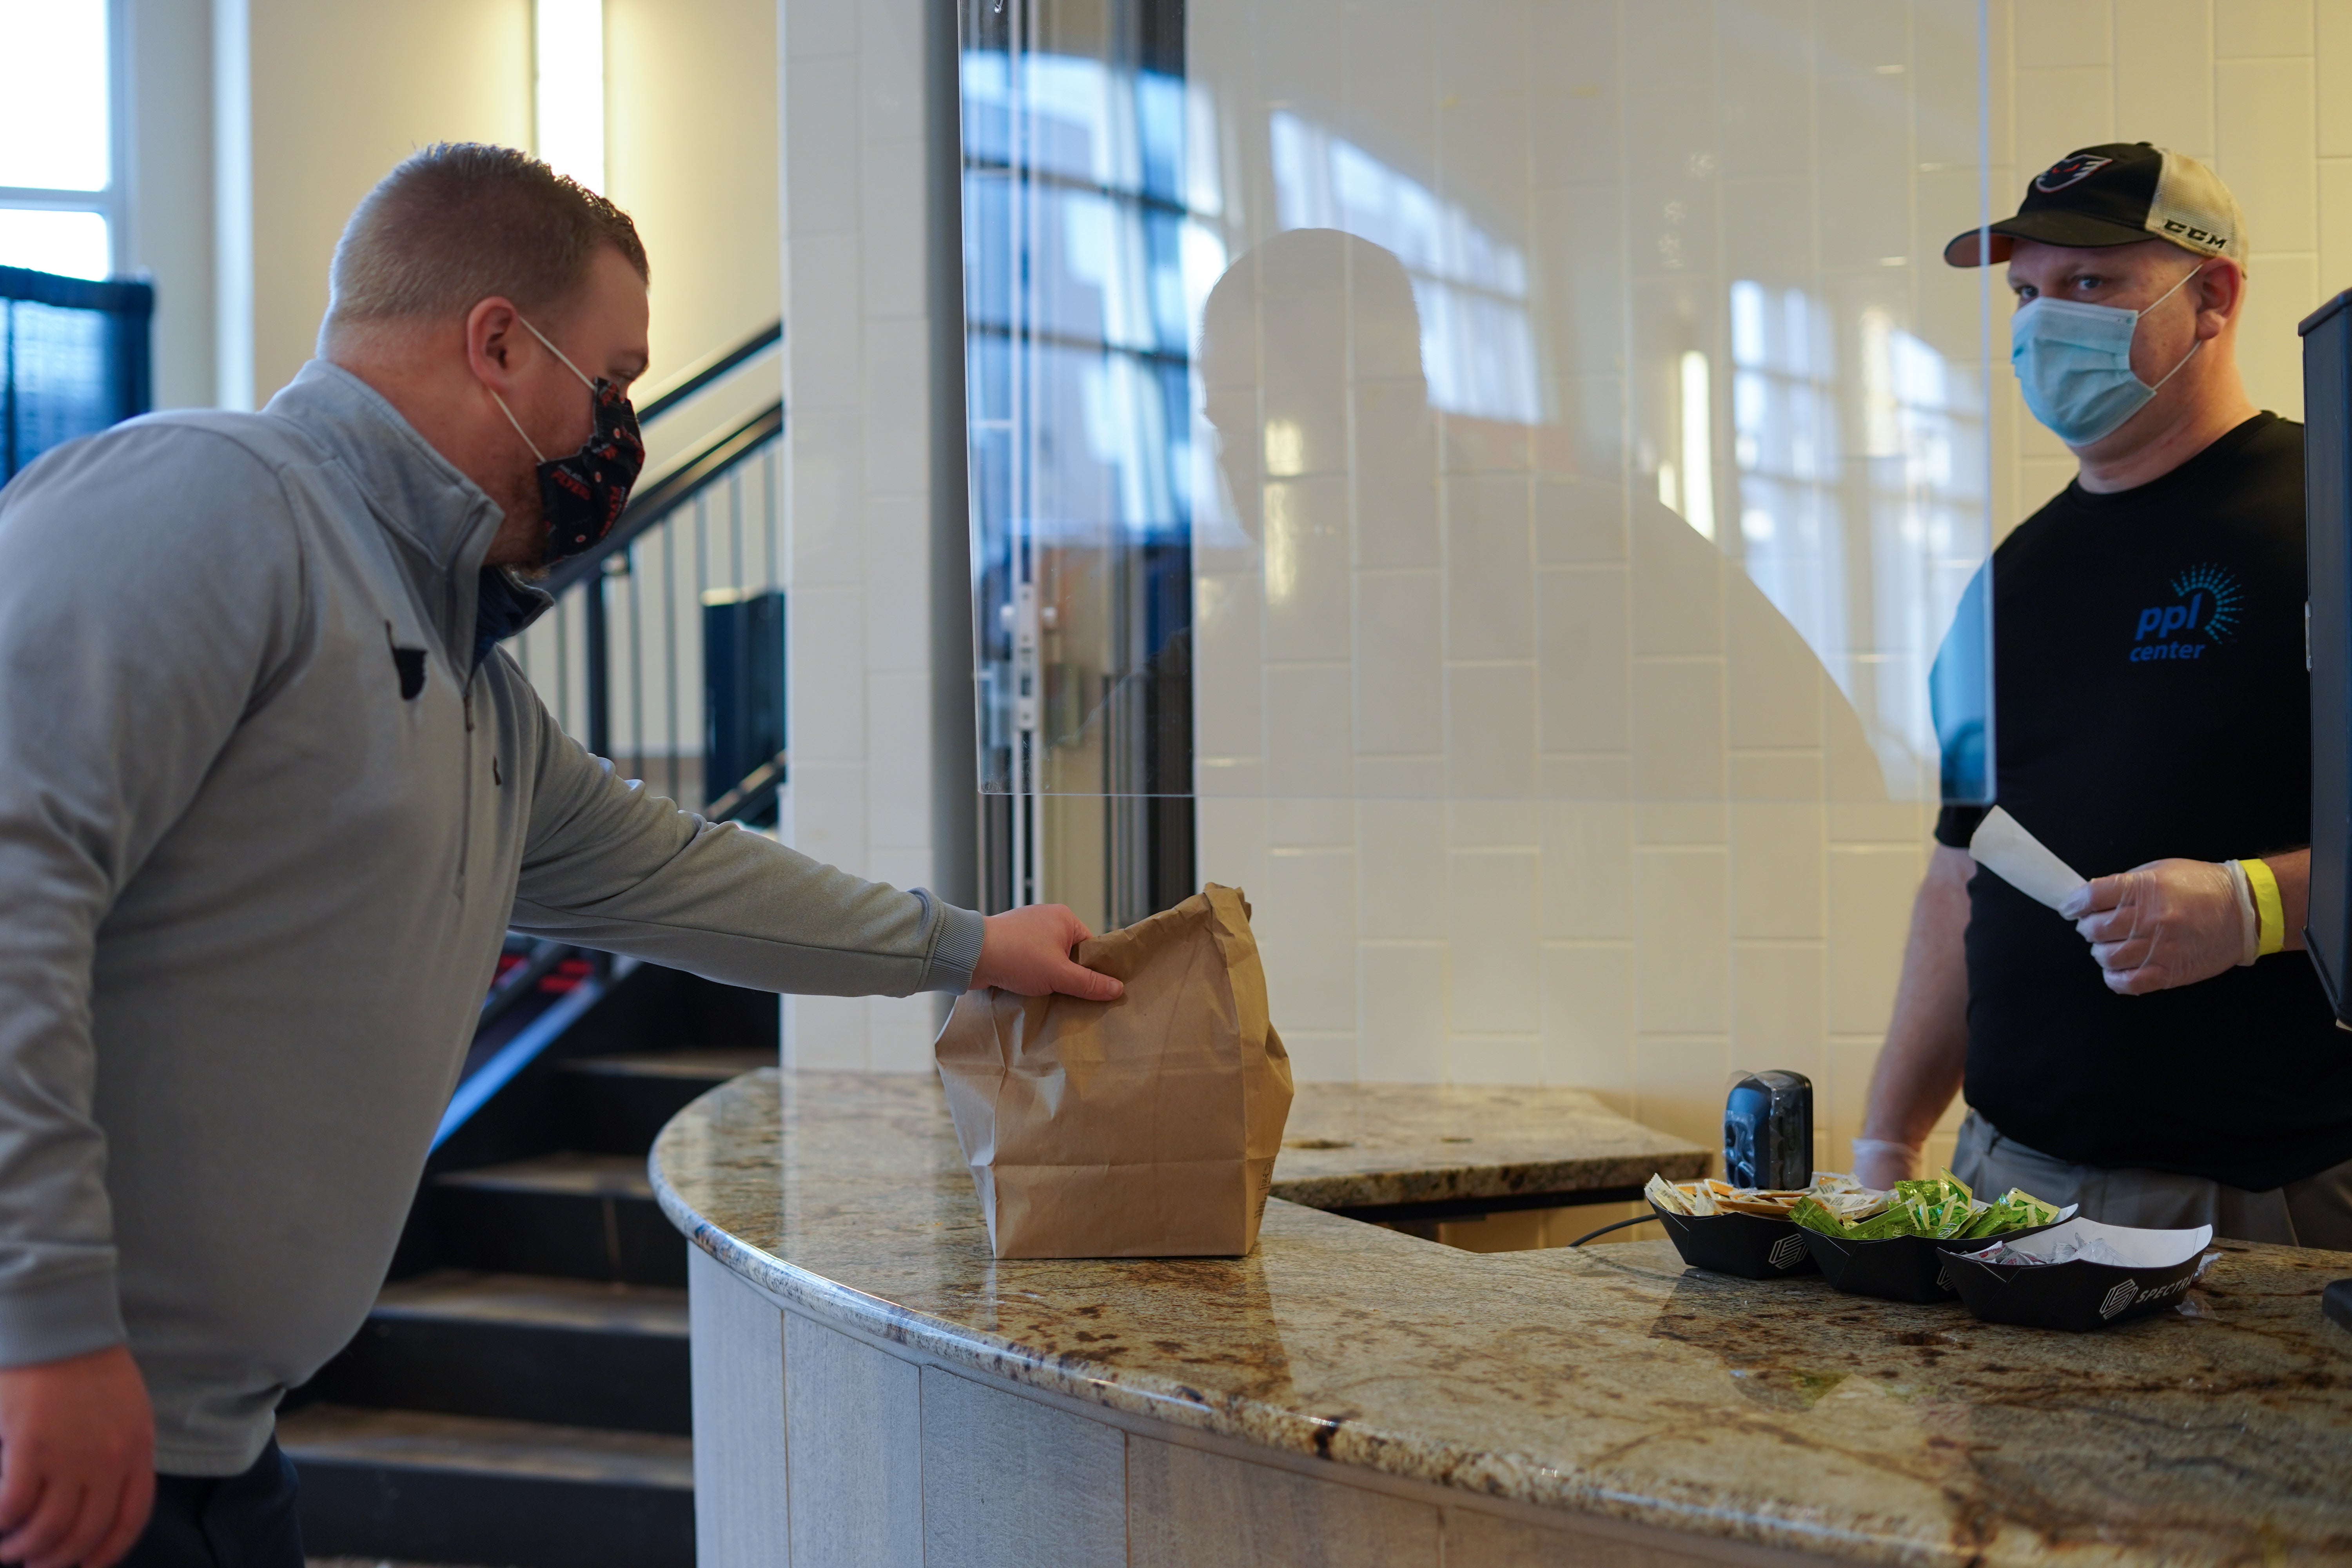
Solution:
[[[1708,1173],[1708,1152],[1583,1088],[1301,1084],[1275,1197],[1308,1208],[1639,1187]]]

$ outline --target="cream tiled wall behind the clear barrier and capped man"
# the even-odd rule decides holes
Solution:
[[[1345,795],[1315,752],[1352,748],[1359,792],[1418,778],[1454,802],[1357,799],[1312,849],[1263,802],[1204,804],[1202,875],[1258,896],[1275,1013],[1315,1039],[1303,1072],[1585,1084],[1712,1140],[1733,1065],[1790,1065],[1823,1091],[1823,1159],[1844,1161],[1931,806],[1900,778],[1872,804],[1884,776],[1839,682],[1785,656],[1736,559],[1644,520],[1675,454],[1679,350],[1724,376],[1729,277],[1893,308],[1983,374],[1980,277],[1936,263],[1978,202],[1976,7],[1482,0],[1430,21],[1418,2],[1192,7],[1192,80],[1240,162],[1261,160],[1230,254],[1275,230],[1279,101],[1522,247],[1552,388],[1534,440],[1442,416],[1435,498],[1411,482],[1432,461],[1414,388],[1310,393],[1331,421],[1352,409],[1355,496],[1334,522],[1319,494],[1312,529],[1317,569],[1345,555],[1352,595],[1308,595],[1308,637],[1303,609],[1258,614],[1254,562],[1204,559],[1204,788]],[[2293,322],[2352,284],[2352,0],[1987,0],[1985,31],[1994,212],[2091,141],[2216,160],[2256,247],[2249,386],[2298,414]],[[1287,275],[1284,299],[1301,287]],[[1329,334],[1329,296],[1315,320]],[[1272,315],[1263,341],[1268,360],[1312,357]],[[1999,310],[1990,348],[1999,364]],[[2006,531],[2072,461],[2006,371],[1980,383]],[[1298,397],[1270,371],[1268,407]],[[1717,534],[1736,548],[1719,454]],[[1324,654],[1343,625],[1345,712]],[[1879,677],[1915,682],[1931,646],[1875,637]],[[1444,783],[1414,757],[1442,757]],[[1352,837],[1334,844],[1334,820]]]

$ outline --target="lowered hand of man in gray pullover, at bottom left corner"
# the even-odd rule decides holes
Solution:
[[[0,1563],[106,1568],[155,1502],[155,1413],[115,1345],[0,1368]]]

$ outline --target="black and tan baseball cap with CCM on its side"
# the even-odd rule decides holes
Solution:
[[[1978,228],[1955,235],[1943,259],[1950,266],[2009,261],[2013,240],[2096,249],[2150,237],[2246,266],[2246,214],[2220,174],[2187,153],[2103,141],[2034,174],[2018,216],[2002,219],[1990,235]]]

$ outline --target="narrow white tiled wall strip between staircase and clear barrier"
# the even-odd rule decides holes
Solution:
[[[922,0],[783,0],[786,842],[934,882]],[[790,997],[786,1060],[924,1072],[934,997]]]

